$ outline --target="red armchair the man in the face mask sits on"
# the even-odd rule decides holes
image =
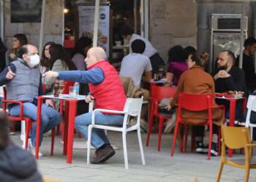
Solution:
[[[23,116],[23,103],[18,100],[7,100],[7,90],[6,87],[3,87],[4,90],[4,99],[2,100],[3,110],[7,113],[7,104],[8,103],[15,103],[20,105],[20,116],[8,116],[8,119],[12,122],[26,122],[26,138],[25,138],[25,149],[28,149],[29,146],[29,131],[32,128],[32,119],[27,116]],[[7,113],[8,114],[8,113]],[[51,135],[51,149],[50,154],[53,156],[53,149],[54,149],[54,138],[55,138],[55,129],[52,129]]]

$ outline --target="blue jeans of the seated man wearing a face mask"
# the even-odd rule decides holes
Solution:
[[[20,116],[20,105],[12,106],[10,108],[11,116]],[[37,106],[34,103],[23,103],[23,116],[28,116],[33,121],[35,121],[32,125],[30,138],[32,146],[36,146],[36,135],[37,135]],[[40,130],[40,142],[39,146],[42,143],[42,135],[45,132],[56,127],[57,124],[61,122],[61,115],[58,111],[53,108],[42,104],[42,116],[41,116],[41,130]]]

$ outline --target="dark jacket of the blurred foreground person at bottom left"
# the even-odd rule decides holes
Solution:
[[[34,156],[15,144],[0,149],[1,182],[41,182]]]

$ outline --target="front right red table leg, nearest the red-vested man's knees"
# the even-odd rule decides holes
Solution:
[[[69,102],[69,123],[67,130],[67,163],[72,163],[74,129],[75,129],[75,116],[77,100],[68,100]]]

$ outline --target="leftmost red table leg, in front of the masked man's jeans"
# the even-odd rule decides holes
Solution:
[[[35,151],[36,159],[38,159],[38,152],[39,152],[41,110],[42,110],[42,97],[39,97],[37,101],[37,136],[36,136],[36,151]]]

